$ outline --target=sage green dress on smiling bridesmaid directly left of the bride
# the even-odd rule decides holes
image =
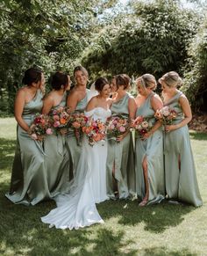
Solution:
[[[75,107],[75,113],[83,113],[88,102],[89,89],[86,89],[86,96],[78,102],[77,106]],[[82,151],[82,137],[80,138],[80,141],[77,142],[73,129],[68,130],[68,135],[66,136],[66,146],[68,149],[68,155],[70,157],[70,177],[73,177],[75,175],[75,170]]]

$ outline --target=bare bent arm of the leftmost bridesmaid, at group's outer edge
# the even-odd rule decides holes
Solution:
[[[22,118],[23,109],[25,106],[25,91],[20,89],[17,93],[15,102],[14,102],[14,116],[18,125],[23,128],[26,132],[30,131],[29,126]]]

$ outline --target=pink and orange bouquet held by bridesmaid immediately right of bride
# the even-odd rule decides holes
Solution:
[[[119,114],[116,116],[111,116],[107,125],[107,133],[110,138],[115,137],[115,139],[117,140],[118,136],[125,134],[125,132],[129,128],[130,128],[129,119]]]

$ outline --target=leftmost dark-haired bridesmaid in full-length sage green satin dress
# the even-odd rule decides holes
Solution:
[[[34,115],[40,113],[43,106],[44,75],[39,69],[27,69],[23,84],[25,87],[18,91],[14,106],[22,167],[20,170],[18,165],[13,165],[11,192],[6,194],[6,197],[14,203],[35,205],[49,197],[42,143],[30,136]],[[15,156],[14,161],[17,161],[17,158],[18,156]],[[22,175],[16,179],[19,170]]]

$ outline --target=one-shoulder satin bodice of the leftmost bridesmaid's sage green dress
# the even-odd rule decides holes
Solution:
[[[42,98],[43,94],[40,90],[38,90],[34,98],[30,102],[25,104],[22,113],[23,116],[40,113],[43,106]]]

